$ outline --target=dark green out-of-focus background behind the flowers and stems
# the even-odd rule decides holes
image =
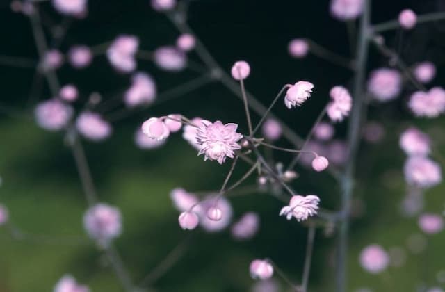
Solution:
[[[39,3],[39,7],[47,35],[57,34],[60,27],[68,29],[60,40],[63,52],[73,44],[103,44],[122,33],[138,35],[140,48],[151,51],[173,44],[179,35],[165,15],[152,10],[148,0],[91,0],[88,17],[81,21],[63,19],[48,1]],[[445,1],[374,0],[373,23],[395,19],[403,8],[429,13],[445,10]],[[295,60],[287,54],[291,38],[305,37],[351,56],[346,25],[330,16],[328,1],[192,1],[188,20],[226,70],[236,60],[248,60],[252,74],[246,87],[264,104],[284,83],[304,79],[316,85],[313,97],[303,108],[288,111],[281,104],[275,108],[275,113],[302,136],[327,102],[330,87],[348,86],[353,76],[315,56]],[[29,19],[13,13],[8,0],[0,1],[0,24],[0,55],[38,60]],[[410,65],[419,60],[434,61],[438,68],[434,84],[443,85],[444,33],[445,22],[425,24],[410,32],[394,31],[385,37],[389,47]],[[190,58],[199,60],[193,53]],[[388,61],[375,49],[369,60],[369,69]],[[152,74],[159,92],[197,76],[191,70],[166,73],[145,60],[138,61],[138,70]],[[83,231],[87,204],[63,135],[44,131],[33,120],[36,102],[51,97],[45,81],[39,77],[35,80],[35,70],[28,67],[0,65],[0,76],[0,202],[8,206],[14,225],[29,234],[48,236],[14,239],[6,227],[0,227],[0,291],[51,291],[65,273],[88,284],[92,291],[122,291],[103,254]],[[64,65],[58,76],[61,83],[76,84],[84,99],[91,92],[99,92],[104,100],[115,98],[130,82],[129,76],[113,70],[105,56],[95,57],[92,65],[81,71]],[[405,106],[410,90],[407,88],[396,102],[371,105],[369,111],[369,119],[384,125],[386,134],[378,144],[362,144],[358,156],[357,216],[351,227],[348,259],[350,291],[360,287],[417,291],[422,283],[445,285],[445,235],[442,232],[428,238],[421,234],[416,217],[401,214],[405,196],[405,157],[398,147],[401,131],[408,124],[416,124],[432,134],[437,153],[445,154],[444,119],[414,120]],[[120,103],[107,106],[104,117],[113,117],[123,107]],[[113,122],[113,136],[103,143],[84,142],[100,200],[122,210],[124,232],[115,243],[134,281],[143,279],[172,248],[184,243],[179,261],[154,283],[156,291],[250,291],[254,281],[248,274],[249,263],[263,257],[273,259],[291,279],[300,282],[307,229],[278,217],[282,202],[268,193],[257,191],[231,200],[234,218],[245,211],[257,211],[261,216],[261,229],[251,241],[234,241],[228,231],[208,234],[200,229],[184,232],[179,228],[170,190],[178,186],[191,191],[216,190],[229,163],[220,166],[204,162],[179,134],[160,149],[138,149],[133,134],[140,123],[167,113],[236,122],[243,131],[246,129],[240,100],[215,82]],[[258,117],[254,115],[254,119]],[[339,138],[345,130],[346,123],[339,124]],[[284,140],[280,145],[289,146]],[[276,156],[284,163],[289,158]],[[339,186],[333,179],[300,166],[297,171],[300,178],[294,186],[298,191],[319,195],[326,209],[339,207]],[[254,179],[245,184],[254,184]],[[443,184],[428,190],[425,210],[442,212],[444,191]],[[309,291],[334,291],[334,243],[335,232],[325,236],[323,229],[318,229]],[[358,254],[370,243],[402,250],[403,264],[382,275],[369,275],[360,268]],[[275,279],[280,291],[289,291],[279,277]]]

